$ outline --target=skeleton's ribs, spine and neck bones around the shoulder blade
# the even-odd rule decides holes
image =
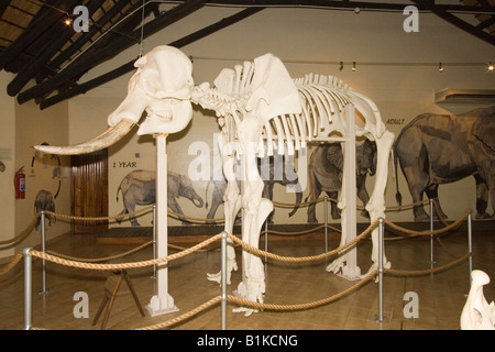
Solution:
[[[235,127],[246,113],[246,101],[251,95],[251,80],[254,64],[245,62],[237,65],[235,70],[223,69],[215,81],[196,87],[193,101],[205,109],[216,111],[219,124],[226,129],[229,142],[235,140]],[[343,110],[353,105],[352,91],[341,79],[334,76],[308,74],[294,79],[301,99],[302,111],[299,114],[282,114],[265,122],[263,135],[258,141],[258,155],[294,155],[295,151],[306,147],[310,141],[328,141],[332,132],[344,134]],[[273,142],[272,142],[273,141]]]

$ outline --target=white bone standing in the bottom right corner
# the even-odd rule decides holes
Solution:
[[[495,330],[495,307],[483,295],[490,277],[482,271],[471,273],[471,289],[461,314],[462,330]]]

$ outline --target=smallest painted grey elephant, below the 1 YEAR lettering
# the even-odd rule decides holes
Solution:
[[[124,209],[120,215],[135,211],[135,206],[153,205],[156,201],[156,172],[138,169],[129,173],[120,183],[117,189],[117,201],[119,201],[119,191],[122,191]],[[204,200],[196,193],[189,177],[168,172],[167,177],[167,201],[168,209],[184,215],[183,209],[177,202],[177,198],[184,197],[193,201],[193,204],[202,208]],[[183,223],[189,223],[186,219],[179,218]],[[131,224],[139,227],[140,223],[135,217],[130,217]],[[119,221],[120,222],[120,221]]]

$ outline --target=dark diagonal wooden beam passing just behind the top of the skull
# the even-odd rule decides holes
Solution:
[[[222,19],[221,21],[219,21],[217,23],[213,23],[213,24],[211,24],[211,25],[209,25],[209,26],[207,26],[207,28],[205,28],[202,30],[199,30],[199,31],[197,31],[195,33],[191,33],[191,34],[189,34],[189,35],[187,35],[187,36],[185,36],[183,38],[179,38],[179,40],[177,40],[175,42],[172,42],[168,45],[180,48],[180,47],[183,47],[185,45],[188,45],[190,43],[199,41],[199,40],[210,35],[210,34],[212,34],[215,32],[218,32],[218,31],[220,31],[220,30],[222,30],[222,29],[224,29],[224,28],[227,28],[229,25],[232,25],[232,24],[234,24],[234,23],[237,23],[239,21],[242,21],[242,20],[244,20],[244,19],[246,19],[246,18],[249,18],[249,16],[251,16],[251,15],[253,15],[253,14],[255,14],[255,13],[262,11],[262,10],[263,10],[263,8],[249,8],[249,9],[245,9],[245,10],[243,10],[241,12],[238,12],[238,13],[235,13],[235,14],[229,16],[229,18]],[[91,90],[94,88],[97,88],[97,87],[99,87],[101,85],[105,85],[105,84],[116,79],[116,78],[119,78],[119,77],[121,77],[121,76],[123,76],[125,74],[129,74],[130,72],[135,69],[134,62],[135,61],[131,61],[131,62],[120,66],[119,68],[116,68],[116,69],[113,69],[113,70],[111,70],[111,72],[109,72],[109,73],[107,73],[107,74],[105,74],[102,76],[99,76],[99,77],[97,77],[95,79],[91,79],[91,80],[89,80],[89,81],[87,81],[85,84],[75,86],[70,90],[65,90],[63,92],[59,92],[56,96],[53,96],[53,97],[47,98],[47,99],[44,99],[43,101],[41,101],[40,108],[42,110],[46,109],[46,108],[50,108],[50,107],[52,107],[52,106],[54,106],[54,105],[56,105],[56,103],[58,103],[61,101],[64,101],[66,99],[70,99],[70,98],[74,98],[76,96],[86,94],[87,91],[89,91],[89,90]]]

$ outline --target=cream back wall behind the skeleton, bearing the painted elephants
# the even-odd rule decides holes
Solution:
[[[144,52],[156,45],[167,44],[193,33],[208,24],[228,16],[238,9],[206,8],[187,19],[161,31],[144,41]],[[441,19],[427,13],[419,14],[419,32],[406,33],[400,12],[326,11],[309,9],[266,9],[238,24],[215,33],[197,43],[183,47],[194,61],[196,85],[212,82],[224,67],[233,67],[244,59],[271,52],[279,56],[293,77],[308,73],[333,75],[344,80],[353,89],[375,101],[382,118],[392,132],[399,134],[418,114],[462,113],[486,103],[436,103],[435,92],[443,88],[494,89],[494,76],[480,65],[449,65],[449,63],[495,62],[495,51],[490,44],[458,30]],[[122,53],[88,74],[87,79],[101,75],[136,57],[139,45]],[[339,64],[344,62],[342,69]],[[349,63],[355,62],[355,70]],[[444,70],[439,72],[439,63]],[[106,128],[108,114],[125,97],[125,75],[103,87],[99,87],[72,99],[68,102],[70,144],[99,134]],[[134,130],[135,131],[135,130]],[[187,129],[167,141],[168,170],[191,178],[197,194],[211,206],[212,187],[207,186],[215,167],[219,166],[215,146],[215,135],[219,132],[211,112],[195,107],[194,118]],[[306,165],[315,146],[306,157],[295,161],[299,180],[306,184]],[[208,168],[208,169],[206,169]],[[135,134],[112,146],[109,151],[109,205],[110,215],[120,213],[124,207],[123,195],[119,191],[121,180],[130,173],[144,169],[155,170],[155,144],[152,136]],[[371,193],[374,178],[366,185]],[[403,204],[411,202],[407,184],[400,169],[398,187]],[[274,200],[294,202],[294,193],[275,185]],[[386,189],[387,207],[395,207],[395,180],[391,163]],[[308,189],[304,189],[304,198]],[[474,178],[442,185],[439,198],[449,219],[461,217],[468,208],[475,208]],[[322,196],[322,195],[321,195]],[[119,198],[119,200],[117,200]],[[186,216],[206,218],[208,211],[196,207],[190,200],[177,199]],[[358,201],[361,205],[361,201]],[[141,209],[138,206],[135,210]],[[307,208],[300,208],[289,218],[290,209],[276,208],[275,223],[307,223]],[[488,206],[488,212],[493,209]],[[215,218],[222,217],[222,207]],[[321,222],[322,204],[318,205],[317,217]],[[414,221],[410,210],[387,212],[393,221]],[[366,221],[360,213],[360,222]],[[332,220],[337,221],[337,220]],[[151,226],[151,216],[139,219],[141,226]],[[182,221],[170,219],[169,224],[180,226]],[[129,227],[130,221],[112,227]]]

